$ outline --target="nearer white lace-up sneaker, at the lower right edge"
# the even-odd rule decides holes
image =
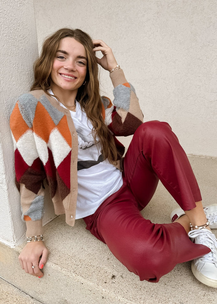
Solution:
[[[191,230],[188,236],[195,244],[202,244],[211,249],[208,254],[192,261],[191,270],[195,278],[205,285],[217,288],[217,240],[215,235],[203,228]]]

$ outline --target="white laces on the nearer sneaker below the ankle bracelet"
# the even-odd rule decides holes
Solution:
[[[217,264],[217,240],[213,233],[209,233],[209,231],[205,230],[192,230],[188,233],[188,236],[191,238],[198,237],[199,244],[205,245],[211,249],[208,254],[205,254],[203,257],[200,257],[200,261],[206,263],[214,263]]]

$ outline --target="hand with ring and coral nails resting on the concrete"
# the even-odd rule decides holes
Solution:
[[[43,277],[44,274],[40,269],[43,268],[42,265],[45,265],[48,253],[43,241],[27,243],[18,257],[21,268],[30,275]],[[38,266],[32,268],[36,265]]]

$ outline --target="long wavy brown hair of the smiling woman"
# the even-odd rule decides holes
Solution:
[[[42,89],[46,94],[49,94],[48,90],[52,88],[50,73],[53,66],[53,59],[57,53],[60,40],[64,37],[74,38],[80,42],[86,50],[88,58],[87,74],[85,78],[86,83],[78,89],[76,99],[93,125],[92,134],[95,141],[96,136],[100,139],[103,158],[108,158],[110,162],[117,160],[120,157],[119,152],[115,146],[112,133],[105,125],[102,117],[98,64],[95,52],[93,52],[92,39],[87,33],[83,32],[81,29],[62,28],[46,38],[43,43],[40,57],[34,63],[35,78],[31,90]]]

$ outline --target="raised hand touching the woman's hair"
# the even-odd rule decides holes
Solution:
[[[93,40],[94,48],[93,50],[101,51],[103,54],[102,58],[96,57],[96,60],[101,67],[107,71],[111,71],[117,65],[115,56],[112,53],[112,49],[102,40]]]

